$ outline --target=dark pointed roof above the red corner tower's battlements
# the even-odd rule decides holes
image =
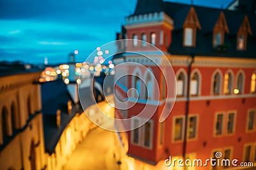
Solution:
[[[134,15],[164,11],[163,0],[138,0]]]

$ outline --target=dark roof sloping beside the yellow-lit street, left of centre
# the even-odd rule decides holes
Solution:
[[[76,115],[76,110],[72,107],[72,113],[67,113],[67,102],[72,100],[67,91],[67,85],[63,80],[49,81],[42,83],[42,113],[44,121],[44,142],[45,150],[53,153],[62,132],[68,123]],[[56,111],[61,110],[61,124],[56,126]]]

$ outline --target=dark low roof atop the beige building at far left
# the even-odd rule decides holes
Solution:
[[[24,64],[20,61],[15,62],[0,62],[0,76],[10,76],[12,74],[24,74],[42,71],[39,67],[31,64]]]

